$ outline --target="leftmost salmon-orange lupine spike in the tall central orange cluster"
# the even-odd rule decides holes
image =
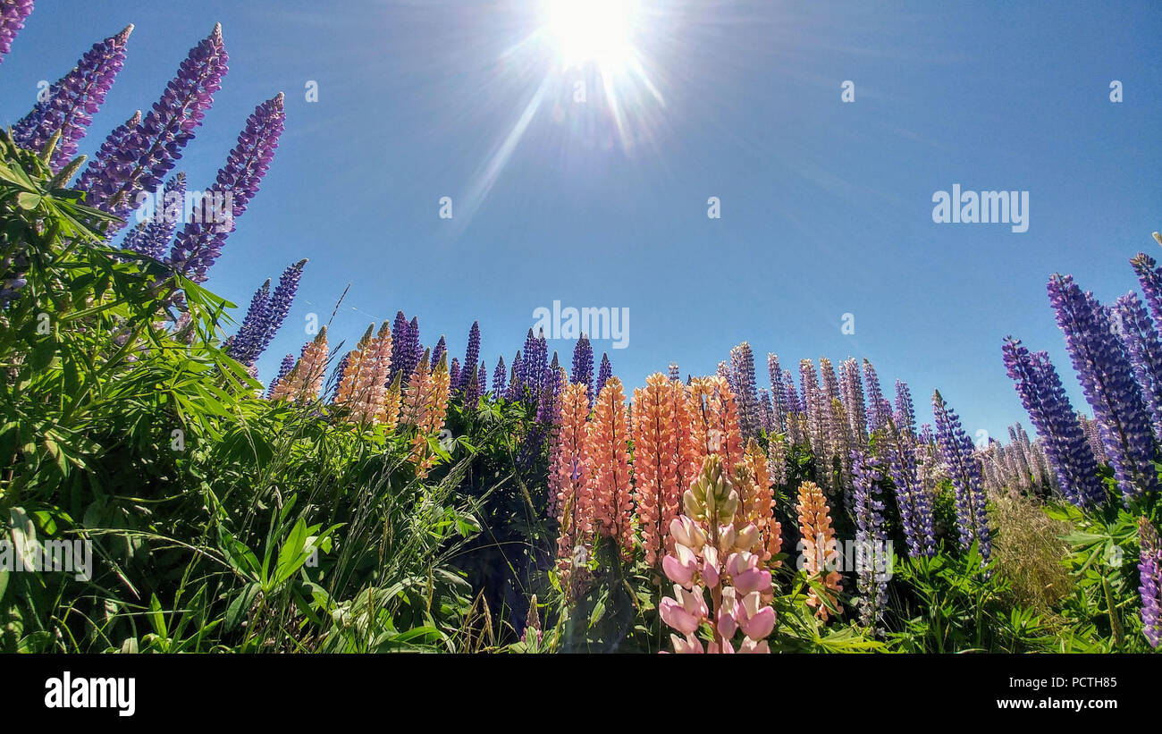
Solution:
[[[589,531],[593,523],[593,502],[588,496],[589,467],[586,463],[586,429],[589,417],[588,386],[583,382],[567,384],[561,393],[561,424],[553,437],[552,463],[548,485],[554,492],[560,535],[557,539],[558,568],[562,585],[578,555],[578,548],[588,553]]]

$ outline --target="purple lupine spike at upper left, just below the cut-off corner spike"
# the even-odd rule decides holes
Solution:
[[[50,86],[43,100],[12,128],[12,139],[24,150],[40,152],[58,131],[50,166],[59,173],[77,154],[77,143],[93,122],[117,72],[125,63],[125,43],[132,24],[116,36],[93,44],[67,74]]]

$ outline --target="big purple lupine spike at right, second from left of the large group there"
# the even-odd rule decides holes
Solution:
[[[1159,488],[1154,434],[1129,358],[1113,333],[1110,315],[1070,275],[1054,275],[1047,287],[1066,348],[1085,400],[1102,430],[1122,501]]]

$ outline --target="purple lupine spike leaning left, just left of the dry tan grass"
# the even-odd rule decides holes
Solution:
[[[960,416],[940,397],[940,390],[932,393],[932,415],[937,422],[937,444],[956,494],[960,546],[968,550],[973,541],[977,541],[981,556],[988,562],[992,554],[992,538],[989,533],[981,465],[974,455],[973,441],[961,427]]]

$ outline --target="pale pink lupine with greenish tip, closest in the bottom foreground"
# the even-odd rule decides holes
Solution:
[[[733,653],[743,633],[740,653],[769,653],[766,636],[775,626],[774,609],[762,599],[770,593],[770,571],[759,568],[752,548],[759,542],[754,525],[736,531],[739,496],[719,456],[710,456],[698,480],[682,495],[684,513],[670,523],[674,552],[662,570],[674,582],[674,597],[659,605],[675,653]],[[710,592],[713,607],[705,602]],[[712,638],[703,649],[696,632],[710,624]]]

